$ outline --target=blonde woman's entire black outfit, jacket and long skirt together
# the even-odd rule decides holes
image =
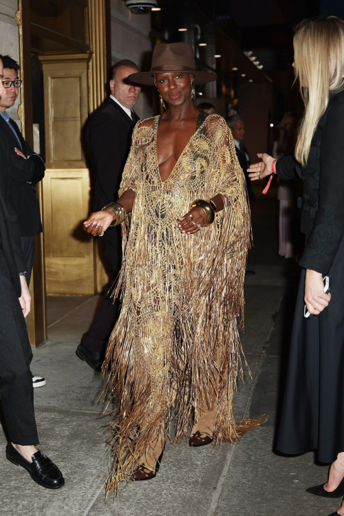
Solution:
[[[292,328],[286,392],[277,449],[317,449],[321,462],[344,451],[344,92],[330,96],[305,167],[292,156],[277,162],[282,179],[303,180],[301,231],[305,250]],[[332,299],[303,316],[305,269],[332,279]]]

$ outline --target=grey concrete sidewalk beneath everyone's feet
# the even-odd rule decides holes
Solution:
[[[276,208],[273,192],[252,206],[256,246],[248,268],[256,275],[246,280],[242,336],[252,380],[246,372],[234,402],[236,419],[267,413],[267,424],[219,449],[192,449],[186,441],[170,445],[155,479],[128,484],[105,505],[109,462],[97,402],[102,380],[75,354],[98,298],[50,297],[49,342],[34,350],[32,361],[32,372],[47,378],[45,387],[35,389],[35,409],[40,447],[66,483],[57,492],[34,484],[6,460],[6,436],[0,433],[1,516],[326,516],[336,509],[336,500],[305,493],[327,474],[312,453],[285,458],[272,452],[294,295],[286,261],[277,255]]]

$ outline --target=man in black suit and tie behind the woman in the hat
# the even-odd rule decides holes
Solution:
[[[118,199],[122,171],[131,145],[133,127],[139,120],[133,106],[140,96],[140,87],[127,80],[138,72],[135,63],[122,60],[112,69],[109,87],[111,95],[89,118],[86,131],[89,158],[93,175],[93,210]],[[109,228],[103,235],[104,254],[109,261],[114,279],[122,261],[120,226]],[[109,283],[109,288],[113,281]],[[100,371],[107,342],[119,316],[119,300],[107,294],[103,297],[96,321],[85,333],[76,354],[95,371]]]

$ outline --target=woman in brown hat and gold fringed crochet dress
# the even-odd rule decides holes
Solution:
[[[122,311],[103,365],[107,400],[118,400],[107,493],[153,478],[166,439],[192,424],[189,444],[202,446],[262,422],[235,422],[232,410],[250,213],[225,120],[193,103],[193,85],[215,78],[195,70],[191,45],[155,46],[151,72],[130,79],[154,83],[168,108],[138,122],[118,202],[85,222],[92,235],[119,223],[123,234]]]

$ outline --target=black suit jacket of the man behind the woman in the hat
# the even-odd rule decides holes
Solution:
[[[111,98],[94,111],[86,127],[93,174],[93,209],[118,199],[122,171],[131,146],[133,121]]]

